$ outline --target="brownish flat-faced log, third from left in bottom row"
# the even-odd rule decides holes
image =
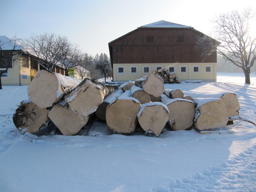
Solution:
[[[141,104],[133,97],[122,95],[106,108],[106,123],[114,132],[131,133],[137,126],[137,114]]]

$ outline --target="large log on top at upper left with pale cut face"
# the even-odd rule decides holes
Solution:
[[[52,107],[80,82],[76,78],[59,73],[39,70],[27,88],[28,98],[40,108]]]

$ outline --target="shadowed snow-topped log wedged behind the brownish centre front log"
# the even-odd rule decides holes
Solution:
[[[98,106],[97,111],[95,112],[98,119],[103,121],[106,120],[106,107],[108,107],[110,103],[113,103],[121,94],[123,94],[123,91],[118,90],[104,99],[103,103]]]

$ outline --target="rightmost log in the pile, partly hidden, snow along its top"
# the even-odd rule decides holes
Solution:
[[[202,94],[188,92],[188,94],[193,98],[220,98],[224,102],[226,110],[228,110],[228,116],[239,115],[240,103],[235,93],[224,92],[219,94]]]

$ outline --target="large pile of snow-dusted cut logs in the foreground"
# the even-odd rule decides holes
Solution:
[[[63,135],[75,135],[95,114],[114,132],[141,127],[158,136],[166,124],[175,131],[226,126],[240,110],[234,93],[188,96],[180,89],[165,90],[162,78],[154,74],[110,86],[39,70],[28,86],[28,97],[13,121],[18,130],[35,134],[54,124]]]

